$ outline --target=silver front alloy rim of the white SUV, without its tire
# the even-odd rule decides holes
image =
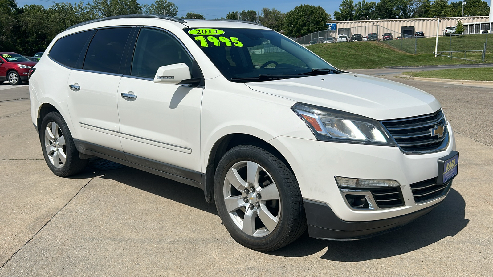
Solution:
[[[249,236],[263,237],[281,218],[279,190],[263,167],[252,161],[234,164],[226,173],[224,203],[229,216]]]

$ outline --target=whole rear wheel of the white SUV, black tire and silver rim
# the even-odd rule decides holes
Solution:
[[[59,113],[53,111],[43,118],[39,139],[44,160],[53,174],[67,177],[85,169],[87,160],[79,158],[69,127]]]

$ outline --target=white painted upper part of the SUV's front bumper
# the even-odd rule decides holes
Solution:
[[[455,150],[450,124],[447,129],[450,141],[443,151],[420,155],[404,154],[395,146],[292,137],[277,137],[269,140],[269,143],[282,153],[291,166],[305,200],[327,205],[343,221],[367,222],[418,212],[445,199],[450,188],[444,194],[423,202],[415,201],[412,188],[416,190],[417,183],[436,178],[438,159]],[[403,205],[375,209],[353,208],[343,197],[334,176],[396,180],[400,184],[398,188],[402,193]],[[308,224],[316,226],[310,221]]]

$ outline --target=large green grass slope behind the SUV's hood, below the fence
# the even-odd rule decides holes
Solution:
[[[492,41],[493,43],[493,41]],[[473,62],[429,54],[409,54],[375,41],[322,43],[307,47],[339,69],[375,69],[391,66],[470,64]]]

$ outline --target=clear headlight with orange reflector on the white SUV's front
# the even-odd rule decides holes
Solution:
[[[310,104],[294,104],[291,108],[310,127],[318,140],[395,145],[377,120]]]

